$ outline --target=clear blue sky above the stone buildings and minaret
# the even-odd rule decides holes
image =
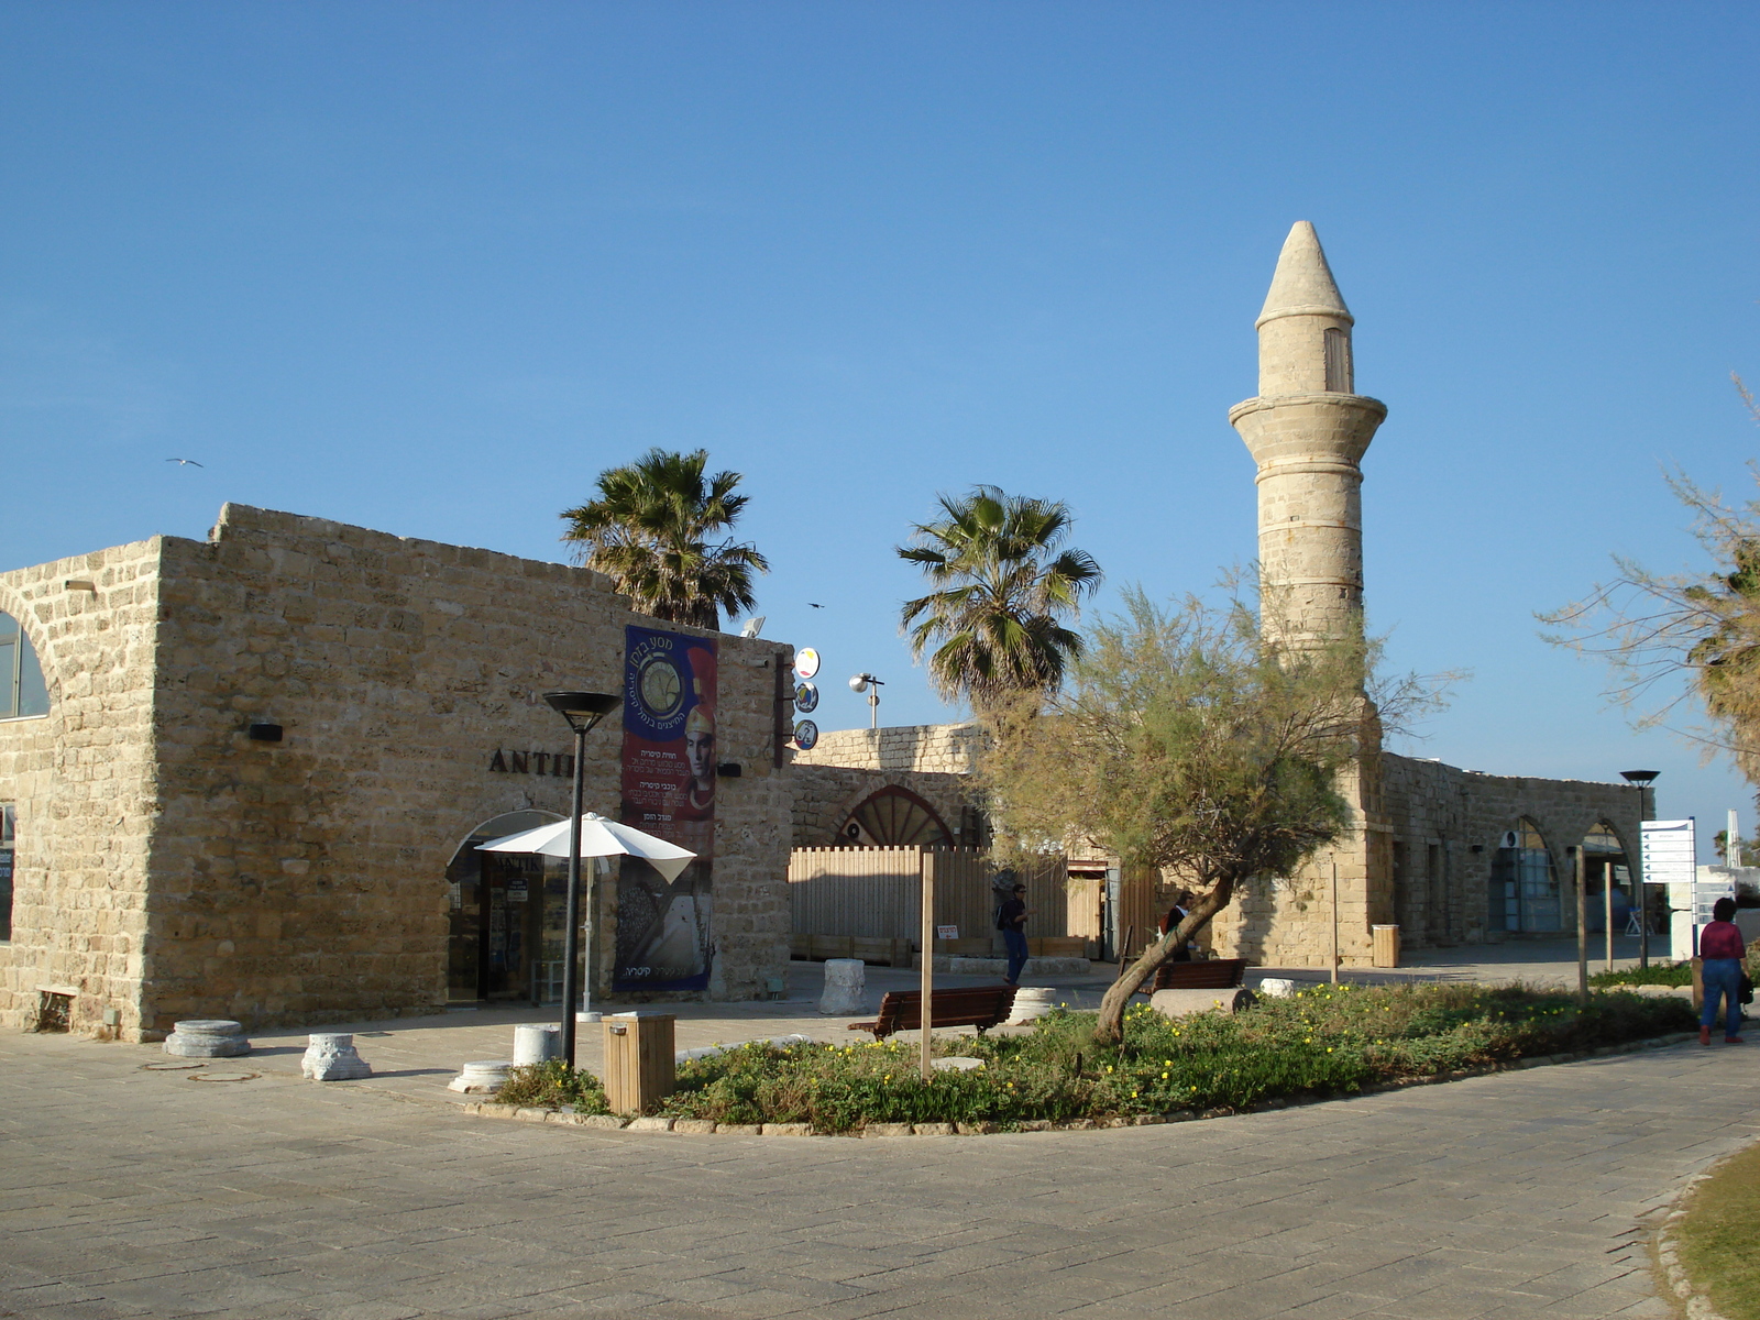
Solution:
[[[12,0],[0,565],[224,500],[563,558],[702,445],[820,723],[859,669],[942,720],[891,553],[936,491],[1068,500],[1111,590],[1251,558],[1227,410],[1306,218],[1389,405],[1371,623],[1473,672],[1413,750],[1751,829],[1533,611],[1695,563],[1665,465],[1748,482],[1756,130],[1753,4]]]

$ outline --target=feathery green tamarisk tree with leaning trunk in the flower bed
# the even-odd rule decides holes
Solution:
[[[1186,919],[1107,991],[1096,1035],[1123,1037],[1125,1007],[1241,885],[1292,875],[1350,825],[1336,781],[1380,746],[1364,688],[1375,644],[1283,648],[1257,612],[1140,590],[1100,621],[1047,702],[986,713],[980,778],[1016,847],[1088,843],[1179,878]],[[1410,709],[1408,678],[1376,697]]]

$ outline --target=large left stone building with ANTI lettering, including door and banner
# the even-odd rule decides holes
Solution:
[[[595,885],[597,993],[753,998],[788,959],[790,664],[583,568],[241,505],[206,542],[0,574],[0,1024],[139,1040],[542,998],[561,864],[472,845],[567,813],[549,690],[625,693],[588,736],[588,810],[678,806],[702,857],[671,889]]]

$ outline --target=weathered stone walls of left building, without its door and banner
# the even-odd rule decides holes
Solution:
[[[92,604],[51,591],[99,570],[114,584]],[[623,627],[653,623],[579,568],[239,505],[206,544],[0,581],[19,609],[0,607],[40,616],[26,627],[51,685],[39,730],[0,725],[28,894],[5,1012],[18,1021],[25,982],[65,979],[81,1014],[118,1001],[125,1035],[444,1003],[452,852],[503,811],[568,810],[567,778],[491,773],[495,750],[570,752],[540,693],[621,690]],[[743,774],[718,788],[709,994],[746,998],[788,957],[787,653],[718,642],[716,753]],[[253,720],[283,741],[250,741]],[[590,810],[618,810],[620,743],[616,718],[588,737]],[[44,832],[46,815],[65,827]]]

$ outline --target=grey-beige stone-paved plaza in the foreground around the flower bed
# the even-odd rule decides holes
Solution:
[[[841,1030],[810,1003],[692,1012],[681,1045]],[[530,1019],[380,1024],[380,1075],[327,1086],[290,1033],[208,1070],[250,1081],[0,1038],[0,1315],[1660,1318],[1658,1207],[1760,1135],[1760,1049],[1698,1045],[1114,1132],[461,1112],[451,1068]]]

